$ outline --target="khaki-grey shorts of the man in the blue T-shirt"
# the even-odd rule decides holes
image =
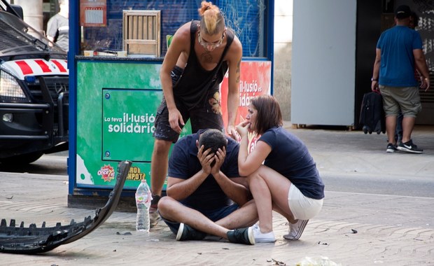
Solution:
[[[388,87],[379,85],[383,97],[383,108],[386,116],[416,117],[422,111],[421,97],[418,87]]]

